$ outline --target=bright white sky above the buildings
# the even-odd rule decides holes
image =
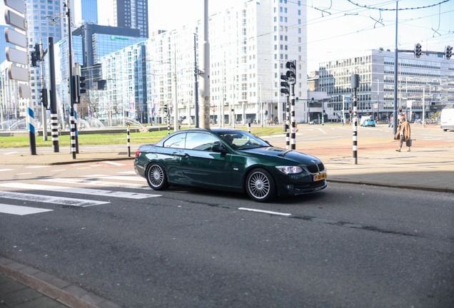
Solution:
[[[352,1],[360,6],[395,9],[395,0]],[[443,0],[400,0],[398,5],[400,9],[404,9],[438,4],[441,1]],[[216,14],[241,2],[243,1],[210,0],[209,14]],[[306,6],[308,6],[308,72],[316,70],[320,62],[355,56],[356,53],[370,49],[383,47],[394,51],[395,11],[384,11],[381,14],[383,26],[375,24],[375,21],[371,19],[379,19],[380,11],[360,8],[348,0],[307,0]],[[331,9],[328,9],[330,6]],[[81,14],[79,8],[80,0],[79,4],[76,2],[76,15]],[[322,16],[322,12],[315,8],[325,9],[331,15],[323,13]],[[0,9],[4,9],[3,1],[1,1]],[[399,11],[398,48],[413,49],[415,43],[421,43],[423,50],[444,51],[445,46],[453,46],[453,10],[454,1],[450,0],[428,9]],[[98,14],[99,24],[107,25],[109,19],[109,24],[113,26],[113,0],[98,0]],[[191,21],[201,19],[202,16],[203,0],[148,0],[150,33],[158,29],[178,29]],[[1,24],[4,24],[3,20]]]

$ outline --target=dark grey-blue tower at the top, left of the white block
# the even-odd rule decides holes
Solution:
[[[114,0],[114,26],[139,29],[148,38],[148,0]]]

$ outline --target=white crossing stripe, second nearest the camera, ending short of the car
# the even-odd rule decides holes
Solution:
[[[87,207],[91,205],[102,205],[110,203],[108,201],[96,201],[96,200],[83,200],[76,198],[67,197],[52,197],[48,195],[32,195],[26,193],[11,193],[0,191],[0,197],[16,200],[26,200],[31,202],[44,202],[44,203],[55,203],[61,205]]]

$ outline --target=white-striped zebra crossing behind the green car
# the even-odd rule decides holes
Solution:
[[[51,207],[50,205],[71,207],[107,205],[111,203],[111,198],[127,201],[161,197],[161,195],[151,192],[136,193],[127,191],[128,189],[151,190],[151,188],[148,187],[145,179],[132,175],[130,172],[123,174],[83,175],[76,178],[46,178],[39,179],[39,184],[25,183],[24,181],[0,183],[0,200],[2,200],[0,202],[0,215],[32,215],[52,212],[54,210],[49,208]],[[55,185],[55,183],[59,183],[59,185]],[[118,190],[99,189],[100,187],[118,188]],[[51,193],[64,194],[64,197],[53,196]],[[94,197],[93,200],[90,198],[92,196]],[[99,200],[99,197],[109,197],[109,200]],[[24,203],[33,202],[34,205],[37,203],[43,206],[14,205],[8,204],[9,202],[4,200],[12,200],[11,203],[16,204],[18,200]],[[47,208],[46,205],[48,205]]]

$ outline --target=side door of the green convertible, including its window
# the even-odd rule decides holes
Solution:
[[[211,150],[221,140],[211,133],[187,133],[186,146],[181,155],[183,175],[193,185],[231,185],[230,153]]]

